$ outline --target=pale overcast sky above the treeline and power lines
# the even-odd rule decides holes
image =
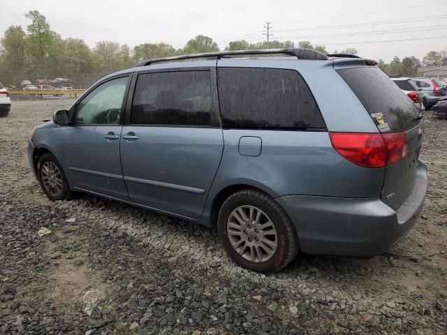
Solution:
[[[230,40],[265,39],[271,22],[273,39],[310,40],[330,52],[355,47],[362,57],[386,62],[447,50],[447,0],[0,0],[0,36],[11,24],[26,28],[29,10],[45,15],[62,38],[91,47],[99,40],[182,47],[203,34],[223,49]]]

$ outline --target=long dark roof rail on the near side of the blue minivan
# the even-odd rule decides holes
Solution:
[[[311,49],[263,49],[263,50],[235,50],[235,51],[219,51],[219,52],[204,52],[202,54],[182,54],[180,56],[173,57],[163,57],[147,59],[138,63],[138,66],[147,66],[153,63],[160,63],[162,61],[179,61],[184,59],[195,59],[195,58],[216,58],[221,59],[221,57],[231,57],[239,56],[243,54],[287,54],[288,56],[294,56],[298,59],[316,59],[316,60],[326,60],[325,54]]]

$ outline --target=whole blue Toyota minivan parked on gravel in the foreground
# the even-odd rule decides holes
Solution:
[[[370,257],[409,232],[427,191],[422,117],[369,59],[149,59],[37,126],[29,163],[50,200],[81,191],[217,226],[237,264],[277,271],[300,250]]]

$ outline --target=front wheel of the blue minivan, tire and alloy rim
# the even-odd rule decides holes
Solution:
[[[52,201],[64,200],[71,197],[68,183],[56,157],[43,154],[37,163],[37,176],[42,190]]]

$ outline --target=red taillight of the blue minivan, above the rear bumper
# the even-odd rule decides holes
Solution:
[[[404,133],[329,133],[332,147],[365,168],[385,168],[408,156]]]

